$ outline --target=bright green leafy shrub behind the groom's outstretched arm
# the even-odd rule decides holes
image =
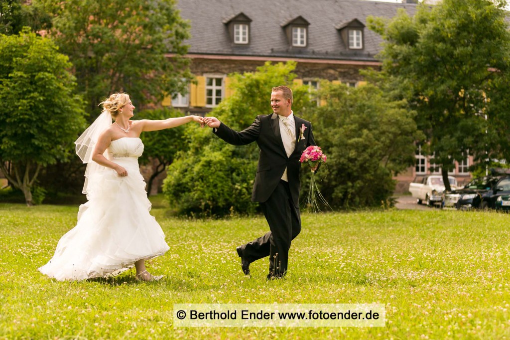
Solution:
[[[295,62],[271,65],[267,62],[256,72],[230,75],[233,94],[211,113],[226,125],[240,131],[259,114],[271,113],[271,88],[288,85],[294,92],[292,108],[296,114],[310,106],[308,88],[293,86]],[[305,116],[304,116],[305,117]],[[187,130],[181,152],[168,167],[164,181],[165,196],[181,214],[223,216],[252,213],[251,190],[256,174],[259,150],[256,143],[235,147],[220,140],[209,128]]]

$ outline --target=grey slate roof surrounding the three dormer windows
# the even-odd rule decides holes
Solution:
[[[339,27],[353,19],[367,24],[367,16],[391,18],[403,8],[413,15],[415,4],[363,0],[178,0],[181,16],[191,24],[189,54],[318,58],[374,61],[382,39],[364,29],[364,49],[345,47]],[[250,23],[250,43],[235,45],[224,25],[239,13]],[[302,16],[310,22],[308,46],[290,47],[282,25]]]

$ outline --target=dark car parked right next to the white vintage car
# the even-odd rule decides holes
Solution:
[[[488,199],[493,195],[493,188],[501,176],[486,176],[473,179],[464,188],[445,192],[443,208],[456,208],[460,210],[486,209]]]

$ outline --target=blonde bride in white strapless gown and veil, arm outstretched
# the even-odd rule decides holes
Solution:
[[[145,269],[145,261],[168,249],[165,235],[150,215],[150,202],[138,166],[143,131],[174,128],[203,118],[184,116],[165,120],[130,120],[135,107],[126,93],[103,103],[103,113],[75,141],[87,164],[77,225],[57,244],[52,259],[39,271],[59,281],[116,275],[133,266],[136,279],[159,280]],[[112,118],[114,122],[112,123]]]

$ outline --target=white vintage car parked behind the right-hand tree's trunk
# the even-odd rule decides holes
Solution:
[[[452,189],[457,188],[457,180],[455,177],[448,176],[448,181]],[[420,183],[409,184],[409,191],[416,198],[418,204],[425,202],[427,205],[443,203],[443,191],[445,185],[443,176],[425,176]]]

